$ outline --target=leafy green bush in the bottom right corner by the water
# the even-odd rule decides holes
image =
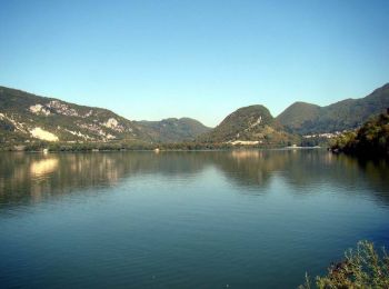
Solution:
[[[315,285],[306,275],[306,283],[299,288],[389,288],[389,256],[385,248],[377,252],[372,242],[360,241],[356,250],[345,253],[343,261],[332,263],[326,276],[316,277]]]

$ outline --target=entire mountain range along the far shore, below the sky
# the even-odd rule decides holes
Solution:
[[[190,118],[131,121],[114,112],[78,106],[0,87],[0,143],[33,140],[63,142],[215,142],[290,144],[299,136],[352,130],[389,108],[389,83],[361,99],[327,107],[295,102],[277,118],[261,104],[240,108],[215,129]],[[311,136],[309,136],[311,137]]]

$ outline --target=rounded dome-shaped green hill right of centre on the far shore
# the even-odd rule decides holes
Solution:
[[[263,106],[250,106],[236,110],[208,133],[199,137],[206,142],[232,144],[287,144],[292,136]]]

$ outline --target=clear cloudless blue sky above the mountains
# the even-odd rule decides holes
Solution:
[[[389,1],[0,0],[0,84],[218,124],[389,82]]]

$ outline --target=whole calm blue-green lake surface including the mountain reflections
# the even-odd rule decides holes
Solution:
[[[323,150],[0,155],[2,288],[296,288],[389,248],[389,167]]]

